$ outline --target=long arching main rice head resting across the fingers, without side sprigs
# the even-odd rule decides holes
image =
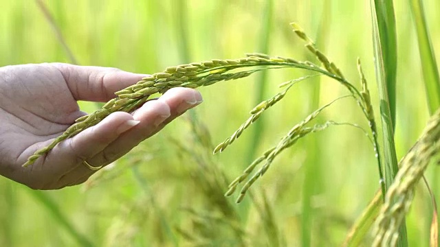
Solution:
[[[116,92],[115,95],[118,97],[115,97],[107,102],[107,104],[104,104],[100,110],[96,110],[90,115],[76,119],[76,123],[67,128],[67,130],[54,139],[50,145],[34,152],[34,154],[28,158],[28,161],[23,167],[32,165],[36,159],[47,154],[47,152],[52,150],[56,144],[65,139],[74,137],[79,132],[91,126],[95,126],[111,113],[116,111],[131,113],[133,110],[136,110],[142,106],[142,104],[147,102],[151,95],[154,95],[155,93],[163,94],[168,91],[168,89],[174,87],[188,87],[195,89],[199,86],[209,86],[220,81],[245,78],[256,71],[261,71],[262,69],[297,68],[316,71],[331,78],[335,78],[340,83],[344,84],[344,86],[350,88],[353,93],[360,95],[354,86],[351,86],[346,80],[338,78],[337,75],[333,75],[310,62],[298,62],[290,58],[256,55],[257,56],[248,56],[236,60],[213,59],[205,62],[182,64],[177,67],[168,67],[163,72],[154,73],[153,75],[143,78],[136,84]],[[259,67],[259,69],[250,69],[252,67]],[[234,69],[242,70],[232,71]],[[243,69],[248,70],[243,71]]]

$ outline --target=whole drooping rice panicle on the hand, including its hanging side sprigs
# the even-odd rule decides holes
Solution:
[[[136,84],[133,84],[126,89],[122,89],[121,91],[116,92],[115,95],[117,95],[117,97],[111,99],[109,102],[107,102],[107,104],[104,104],[104,106],[102,106],[102,109],[97,110],[90,115],[76,119],[76,123],[74,125],[67,128],[67,130],[63,134],[61,134],[60,137],[54,139],[54,141],[52,141],[49,146],[42,148],[41,150],[37,150],[33,155],[28,158],[28,161],[23,166],[31,165],[36,161],[36,159],[52,150],[52,148],[54,148],[57,143],[67,138],[74,137],[74,135],[78,134],[79,132],[98,124],[100,121],[102,121],[102,119],[104,119],[111,113],[114,113],[116,111],[125,111],[129,113],[133,112],[133,110],[139,108],[146,101],[150,100],[151,95],[154,95],[156,93],[163,94],[168,91],[168,89],[177,86],[194,89],[199,86],[209,86],[221,81],[244,78],[252,75],[252,73],[262,71],[264,69],[282,68],[296,68],[305,69],[307,71],[315,71],[318,72],[318,74],[327,75],[329,76],[329,78],[333,78],[334,80],[340,82],[342,86],[347,88],[351,93],[351,95],[349,96],[353,97],[355,101],[358,102],[362,113],[364,113],[366,119],[370,123],[371,132],[373,134],[373,146],[375,148],[375,154],[376,156],[378,156],[377,139],[375,138],[376,130],[373,117],[373,108],[371,106],[369,91],[366,88],[366,80],[364,79],[362,69],[360,69],[360,62],[358,61],[358,68],[360,69],[362,80],[361,92],[358,91],[358,89],[356,89],[353,84],[344,79],[344,76],[342,75],[340,69],[336,67],[336,64],[330,62],[327,56],[316,49],[314,42],[307,36],[307,34],[305,34],[305,32],[303,32],[303,30],[300,29],[298,25],[296,25],[295,23],[292,23],[291,25],[292,27],[294,27],[294,32],[300,38],[308,42],[306,45],[307,49],[309,49],[318,58],[318,60],[320,60],[325,69],[322,69],[318,65],[313,64],[309,61],[298,62],[297,60],[291,58],[271,57],[265,54],[247,54],[245,58],[239,58],[236,60],[213,59],[204,62],[182,64],[177,67],[168,67],[162,72],[154,73],[153,75],[143,78],[142,80],[140,80],[140,82],[137,82]],[[287,91],[296,82],[304,80],[305,78],[299,78],[298,80],[292,80],[290,82],[282,84],[281,86],[287,86],[285,91],[278,93],[274,97],[267,99],[266,101],[261,102],[261,104],[256,106],[251,111],[252,116],[250,117],[250,119],[248,119],[248,121],[246,121],[245,124],[243,124],[239,128],[239,130],[234,132],[234,134],[232,134],[232,137],[230,137],[220,145],[217,145],[217,148],[214,149],[214,152],[224,150],[226,146],[228,146],[230,143],[232,143],[232,141],[240,136],[245,128],[248,128],[248,126],[250,126],[253,121],[258,119],[263,111],[265,111],[267,108],[270,108],[270,106],[276,104],[276,102],[279,102],[284,97],[285,93],[287,93]],[[330,104],[332,104],[333,102],[331,102]],[[305,127],[305,125],[308,124],[309,121],[313,120],[324,108],[327,108],[327,106],[329,106],[330,104],[318,108],[318,110],[314,111],[314,113],[312,113],[311,115],[306,117],[306,119],[294,126],[294,128],[292,128],[292,130],[290,130],[289,133],[285,137],[283,137],[283,139],[278,143],[278,145],[276,145],[276,147],[265,152],[265,154],[263,154],[263,156],[261,156],[260,158],[257,158],[256,161],[254,161],[250,165],[250,167],[245,170],[243,175],[239,177],[239,180],[235,180],[230,185],[230,189],[228,190],[226,195],[232,194],[236,188],[236,185],[247,178],[247,176],[250,174],[250,172],[252,172],[256,165],[258,165],[262,161],[265,161],[265,164],[261,167],[261,169],[259,169],[259,171],[256,172],[256,174],[254,174],[254,176],[252,176],[241,189],[239,198],[236,200],[236,202],[241,202],[241,200],[243,200],[243,197],[245,196],[246,191],[248,191],[250,186],[257,180],[257,178],[262,176],[267,171],[274,158],[280,152],[282,152],[285,148],[292,146],[294,143],[296,143],[296,141],[298,141],[298,139],[304,137],[311,132],[318,132],[320,130],[324,130],[330,125],[337,124],[333,121],[327,121],[321,126],[316,125],[314,127]]]

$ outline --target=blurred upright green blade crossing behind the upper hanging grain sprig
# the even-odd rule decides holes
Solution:
[[[263,27],[261,27],[260,38],[259,38],[261,42],[259,44],[259,52],[263,54],[269,53],[273,9],[274,9],[274,1],[266,0],[265,7],[263,10],[263,21],[262,21]],[[254,101],[254,105],[259,104],[265,98],[264,93],[267,89],[267,71],[262,71],[260,73],[259,78],[257,78],[256,85],[257,85],[256,99]],[[254,124],[251,140],[249,142],[252,143],[252,145],[250,145],[250,150],[248,152],[249,162],[253,161],[254,159],[256,150],[261,140],[261,134],[263,133],[263,131],[264,131],[264,121],[263,119],[260,119],[260,121],[256,121],[256,123]]]

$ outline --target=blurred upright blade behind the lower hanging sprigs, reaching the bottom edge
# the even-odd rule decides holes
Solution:
[[[316,46],[322,47],[324,49],[325,40],[327,40],[328,32],[330,30],[330,11],[331,2],[324,1],[322,7],[322,14],[320,24],[318,26],[318,31],[316,32]],[[322,50],[324,51],[324,50]],[[309,53],[307,53],[309,54]],[[311,78],[313,82],[311,85],[311,109],[319,108],[320,100],[320,77]],[[303,207],[301,212],[301,244],[303,247],[311,246],[311,233],[312,222],[314,218],[314,210],[311,206],[311,198],[322,193],[322,174],[320,167],[320,155],[318,150],[320,149],[320,143],[317,141],[316,137],[311,139],[309,148],[307,148],[307,159],[305,161],[305,178],[303,184]],[[318,228],[318,231],[321,231]],[[318,233],[320,234],[320,233]],[[324,243],[322,243],[324,244]]]

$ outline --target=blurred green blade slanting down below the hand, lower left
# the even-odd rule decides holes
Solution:
[[[56,202],[54,202],[50,196],[47,196],[45,192],[32,189],[25,189],[25,191],[28,191],[30,196],[43,204],[50,216],[56,220],[58,226],[65,228],[65,231],[67,231],[67,233],[69,233],[69,235],[71,235],[80,246],[94,246],[87,237],[76,230],[75,226],[69,221],[63,211],[61,211]]]

